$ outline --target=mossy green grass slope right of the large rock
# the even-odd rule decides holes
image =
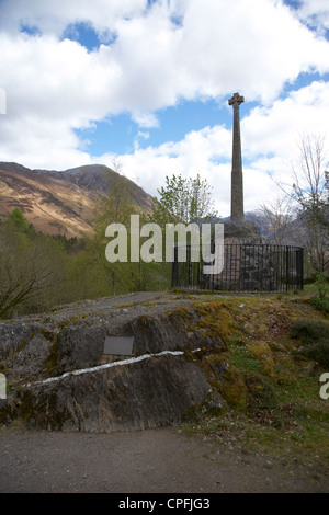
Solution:
[[[329,331],[328,314],[309,302],[315,290],[314,285],[307,285],[297,296],[225,296],[235,320],[227,355],[243,376],[246,407],[204,415],[184,431],[242,453],[259,449],[274,457],[286,454],[299,462],[322,460],[328,466],[329,399],[320,398],[319,377],[329,366],[316,355],[300,353],[305,345],[310,348],[309,341],[319,341]],[[202,296],[200,300],[216,298],[223,300],[223,296]],[[263,367],[262,354],[253,352],[262,348],[260,345],[270,350],[272,375]]]

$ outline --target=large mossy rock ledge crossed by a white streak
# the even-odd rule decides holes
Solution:
[[[226,354],[225,302],[138,295],[2,321],[8,398],[0,422],[106,433],[158,427],[224,409],[232,399],[229,382],[240,402],[245,385]],[[104,363],[106,336],[133,336],[132,355]]]

